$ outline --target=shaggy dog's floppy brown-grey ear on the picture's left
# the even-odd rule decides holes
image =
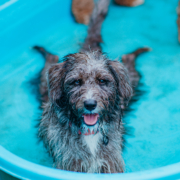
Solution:
[[[56,103],[62,95],[63,79],[65,75],[64,62],[52,65],[47,74],[49,99]]]

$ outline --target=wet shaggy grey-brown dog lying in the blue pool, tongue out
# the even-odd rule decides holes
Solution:
[[[124,172],[122,111],[132,96],[128,70],[135,71],[134,59],[148,49],[124,56],[128,70],[101,53],[100,30],[108,5],[109,0],[98,1],[81,51],[65,56],[64,62],[57,63],[57,56],[34,47],[46,59],[38,134],[59,169]]]

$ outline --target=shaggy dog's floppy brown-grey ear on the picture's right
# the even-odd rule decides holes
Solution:
[[[123,100],[128,103],[132,96],[132,88],[129,82],[128,71],[118,61],[108,61],[108,66],[111,74],[113,75],[118,92]]]

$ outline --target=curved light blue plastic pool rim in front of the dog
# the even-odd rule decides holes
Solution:
[[[126,179],[126,180],[145,180],[145,179],[162,179],[180,177],[180,163],[167,165],[164,167],[145,170],[140,172],[123,173],[123,174],[88,174],[77,173],[65,170],[45,167],[21,157],[18,157],[0,146],[0,170],[20,179],[64,179],[64,180],[84,180],[84,179]],[[88,177],[87,177],[88,176]]]

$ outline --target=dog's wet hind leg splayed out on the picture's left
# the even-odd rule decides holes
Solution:
[[[47,89],[47,80],[46,80],[46,72],[50,68],[52,64],[55,64],[59,61],[59,57],[56,55],[53,55],[46,51],[46,49],[39,47],[39,46],[34,46],[33,47],[35,50],[40,52],[44,59],[46,60],[45,66],[43,70],[41,71],[41,77],[40,77],[40,85],[39,85],[39,91],[41,94],[41,100],[42,102],[47,102],[48,101],[48,89]]]

